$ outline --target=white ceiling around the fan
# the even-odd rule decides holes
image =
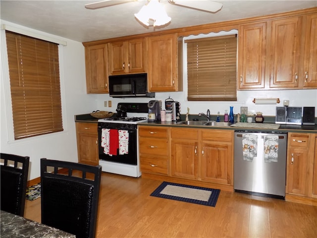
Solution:
[[[317,6],[317,0],[214,0],[216,13],[198,11],[161,0],[171,22],[161,28],[145,27],[134,17],[146,0],[95,10],[85,4],[100,0],[0,0],[1,20],[78,42],[150,33],[186,26],[262,16]]]

